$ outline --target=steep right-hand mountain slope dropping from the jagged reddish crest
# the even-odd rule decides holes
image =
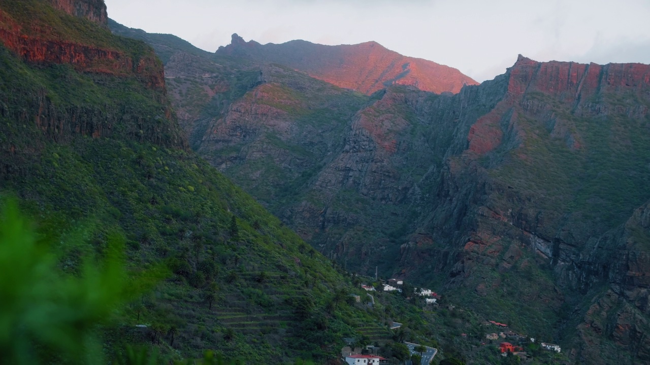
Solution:
[[[409,276],[426,275],[418,260],[424,254],[437,270],[446,268],[441,270],[447,270],[445,286],[454,288],[459,300],[493,314],[511,312],[510,322],[530,318],[536,307],[531,303],[543,303],[552,310],[543,312],[536,326],[554,331],[557,340],[572,338],[573,316],[590,317],[595,310],[584,307],[606,300],[608,290],[643,326],[647,314],[642,315],[638,294],[626,301],[623,292],[645,292],[642,282],[625,279],[645,272],[644,249],[606,237],[650,196],[650,140],[640,132],[649,121],[649,72],[641,64],[539,63],[519,57],[495,79],[502,81],[502,99],[480,118],[460,118],[456,138],[467,148],[445,163],[434,211],[406,245],[400,267],[413,270]],[[452,244],[421,249],[420,242],[427,241]],[[552,276],[536,267],[549,268]],[[547,284],[531,292],[526,284],[531,280]],[[562,292],[565,296],[558,296]],[[513,298],[529,304],[511,307]],[[597,333],[597,341],[583,336],[574,347],[584,350],[577,350],[577,359],[646,359],[642,338],[614,324],[619,308],[602,310],[601,315],[612,316],[610,327],[590,332]],[[625,316],[620,320],[625,328]],[[585,325],[577,326],[584,333]]]

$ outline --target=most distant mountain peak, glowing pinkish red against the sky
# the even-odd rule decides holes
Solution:
[[[437,94],[456,94],[463,85],[477,84],[458,69],[422,58],[405,57],[376,42],[322,45],[292,40],[283,44],[261,45],[252,40],[244,42],[240,36],[233,34],[231,43],[219,47],[216,55],[283,64],[316,79],[363,94],[372,94],[393,84],[411,85]]]

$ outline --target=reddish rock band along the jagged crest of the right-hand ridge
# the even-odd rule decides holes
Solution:
[[[484,155],[502,142],[504,118],[516,120],[517,110],[528,116],[539,117],[541,110],[531,95],[546,95],[564,105],[575,105],[578,116],[606,115],[611,112],[641,116],[647,114],[644,105],[611,105],[597,103],[601,92],[625,92],[643,98],[650,91],[650,65],[645,64],[578,64],[575,62],[536,62],[519,55],[517,62],[508,69],[508,93],[469,129],[469,151]],[[514,107],[514,111],[513,111]],[[514,116],[506,117],[513,112]],[[548,112],[548,110],[546,110]],[[573,126],[556,115],[552,135],[565,138],[567,145],[580,149],[580,136],[571,133]],[[569,123],[570,124],[570,123]]]

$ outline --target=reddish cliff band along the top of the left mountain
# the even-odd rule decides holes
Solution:
[[[152,49],[130,40],[108,38],[103,29],[77,29],[83,25],[79,18],[107,24],[103,0],[51,3],[72,17],[40,1],[8,1],[0,8],[0,42],[27,62],[71,64],[79,71],[122,77],[134,75],[146,87],[157,90],[161,101],[164,99],[164,68]],[[52,16],[60,18],[60,27],[47,23]]]

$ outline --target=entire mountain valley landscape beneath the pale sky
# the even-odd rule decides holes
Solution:
[[[649,65],[109,14],[0,3],[0,363],[650,361]]]

